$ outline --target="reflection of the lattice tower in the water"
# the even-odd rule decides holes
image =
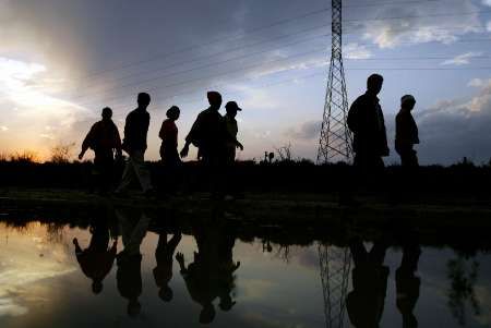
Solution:
[[[319,243],[319,265],[324,295],[326,328],[343,328],[351,252],[349,248]]]

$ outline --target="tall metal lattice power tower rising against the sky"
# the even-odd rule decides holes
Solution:
[[[332,53],[325,95],[318,163],[346,161],[352,158],[351,133],[346,123],[348,96],[343,66],[343,7],[332,0]]]

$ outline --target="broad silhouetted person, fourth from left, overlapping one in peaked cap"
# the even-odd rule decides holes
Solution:
[[[197,158],[209,171],[207,172],[212,182],[212,192],[215,195],[218,189],[221,192],[223,179],[219,169],[225,161],[225,142],[227,132],[224,118],[218,112],[221,106],[221,95],[217,92],[208,92],[207,98],[209,107],[197,114],[191,130],[185,137],[185,144],[180,155],[188,156],[189,146],[193,144],[197,147]]]

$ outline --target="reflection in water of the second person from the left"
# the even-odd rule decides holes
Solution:
[[[117,256],[116,280],[119,293],[129,301],[128,315],[134,317],[141,312],[139,297],[142,294],[142,254],[140,253],[140,245],[146,234],[151,219],[144,214],[141,215],[139,220],[132,220],[128,217],[128,214],[118,210],[116,215],[124,245],[123,251]]]

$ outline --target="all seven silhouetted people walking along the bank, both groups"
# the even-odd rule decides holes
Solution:
[[[366,178],[380,173],[384,167],[382,158],[388,156],[390,153],[384,114],[378,98],[382,84],[382,75],[370,75],[367,81],[367,92],[354,101],[347,117],[347,125],[354,134],[355,167]],[[217,191],[226,190],[225,179],[220,177],[227,175],[227,171],[228,173],[232,172],[226,168],[232,168],[236,149],[243,149],[242,144],[237,139],[236,120],[241,108],[236,101],[229,101],[225,106],[227,113],[221,116],[219,113],[223,102],[221,95],[217,92],[208,92],[207,99],[209,107],[197,116],[181,151],[178,151],[176,121],[179,119],[180,109],[177,106],[167,110],[167,119],[163,122],[158,135],[161,138],[161,161],[166,167],[166,175],[169,178],[166,183],[176,184],[172,180],[179,175],[177,172],[181,165],[181,158],[187,157],[190,146],[194,145],[197,147],[197,158],[205,168],[209,169],[205,175],[211,179],[212,190],[215,194]],[[117,158],[121,158],[122,150],[124,150],[129,155],[129,159],[115,193],[124,195],[130,184],[136,180],[145,194],[153,194],[149,171],[144,162],[151,120],[146,109],[149,104],[151,96],[148,94],[139,94],[137,108],[127,117],[122,143],[118,129],[111,120],[110,108],[103,109],[103,120],[95,123],[85,137],[79,158],[82,159],[88,148],[95,151],[95,177],[105,191],[109,191],[110,180],[113,177],[115,150]],[[419,143],[418,127],[411,116],[415,105],[414,96],[403,96],[400,110],[396,116],[395,149],[405,168],[418,166],[417,153],[414,149],[414,145]]]

